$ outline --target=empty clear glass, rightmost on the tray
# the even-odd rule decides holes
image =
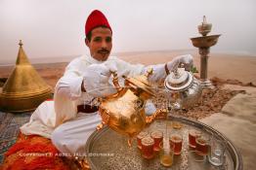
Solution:
[[[214,136],[211,140],[211,150],[208,155],[209,162],[214,166],[221,166],[225,161],[227,141]]]

